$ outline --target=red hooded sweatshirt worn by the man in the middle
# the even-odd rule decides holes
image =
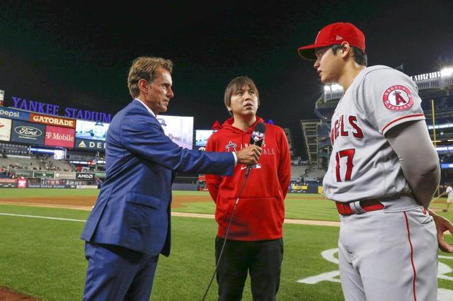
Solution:
[[[233,127],[233,118],[222,130],[212,134],[206,145],[209,152],[234,152],[247,147],[251,133],[263,119],[256,117],[246,132]],[[217,235],[225,237],[234,203],[246,174],[246,165],[238,164],[233,176],[206,175],[207,188],[216,203]],[[282,237],[285,220],[285,196],[291,177],[291,158],[285,132],[276,125],[266,124],[263,152],[248,174],[246,186],[236,208],[228,239],[258,241]]]

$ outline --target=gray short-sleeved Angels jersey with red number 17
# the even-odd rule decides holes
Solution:
[[[363,69],[332,116],[333,145],[323,194],[348,202],[410,192],[398,156],[384,137],[425,116],[412,79],[386,66]]]

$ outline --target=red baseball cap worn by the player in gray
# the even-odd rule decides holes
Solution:
[[[297,52],[304,59],[314,60],[316,59],[316,55],[314,55],[315,48],[341,44],[345,41],[365,52],[365,35],[362,31],[351,23],[342,22],[329,24],[319,30],[314,44],[299,47]]]

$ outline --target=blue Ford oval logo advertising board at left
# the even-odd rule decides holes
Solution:
[[[13,120],[11,141],[28,144],[44,144],[45,125]]]

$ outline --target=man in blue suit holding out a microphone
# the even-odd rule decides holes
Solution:
[[[134,100],[108,128],[107,175],[81,239],[88,260],[85,301],[148,301],[159,254],[170,254],[171,183],[175,171],[231,176],[256,164],[261,149],[197,152],[178,147],[156,115],[173,97],[173,63],[139,57],[127,85]]]

